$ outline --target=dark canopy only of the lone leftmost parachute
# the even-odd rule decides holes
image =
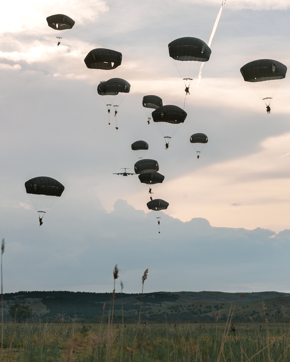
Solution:
[[[34,177],[25,182],[26,192],[34,195],[61,196],[65,186],[51,177]]]

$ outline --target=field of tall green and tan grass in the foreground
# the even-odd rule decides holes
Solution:
[[[290,361],[289,325],[4,324],[2,361]]]

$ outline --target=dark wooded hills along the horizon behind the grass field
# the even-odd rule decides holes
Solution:
[[[114,319],[125,323],[136,322],[140,312],[141,294],[116,293]],[[264,303],[264,307],[262,306]],[[4,294],[5,318],[9,319],[9,307],[20,303],[32,308],[34,317],[53,321],[90,321],[98,323],[106,319],[111,308],[111,293],[70,291],[20,291]],[[290,294],[276,291],[252,293],[200,292],[152,292],[143,295],[141,317],[143,320],[176,323],[226,321],[229,311],[233,319],[244,323],[251,321],[289,321]],[[266,309],[265,309],[266,308]],[[264,312],[263,312],[264,310]],[[103,316],[103,317],[102,317]]]

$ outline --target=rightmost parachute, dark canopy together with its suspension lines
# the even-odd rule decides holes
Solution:
[[[287,67],[273,59],[258,59],[245,64],[240,69],[244,81],[269,106],[277,92]]]

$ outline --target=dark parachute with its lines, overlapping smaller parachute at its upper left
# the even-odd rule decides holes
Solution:
[[[167,144],[177,132],[179,124],[185,121],[186,116],[187,113],[182,108],[173,105],[162,106],[152,112],[153,121],[157,123]]]

